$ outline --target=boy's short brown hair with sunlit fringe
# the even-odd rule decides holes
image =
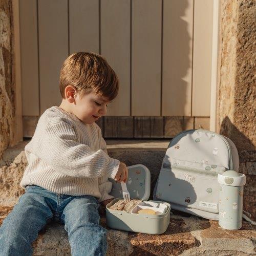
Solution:
[[[119,90],[115,71],[102,56],[92,52],[73,53],[63,62],[59,77],[62,98],[65,98],[68,85],[75,87],[82,96],[95,90],[98,96],[109,101],[117,96]]]

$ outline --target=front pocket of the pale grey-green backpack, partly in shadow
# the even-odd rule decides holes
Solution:
[[[217,173],[182,166],[170,167],[168,164],[163,163],[161,168],[156,199],[212,213],[218,212]]]

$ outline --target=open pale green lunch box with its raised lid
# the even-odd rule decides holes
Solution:
[[[170,204],[162,201],[147,201],[150,197],[150,170],[142,164],[127,166],[129,172],[126,181],[127,190],[130,193],[131,199],[140,199],[137,206],[132,209],[132,212],[124,210],[110,209],[118,200],[122,198],[121,184],[113,179],[112,190],[110,195],[114,196],[109,204],[106,205],[106,225],[110,228],[120,229],[125,231],[133,231],[148,234],[164,233],[170,221]],[[155,215],[138,214],[140,209],[153,209]]]

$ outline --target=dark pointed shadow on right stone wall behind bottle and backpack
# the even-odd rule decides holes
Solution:
[[[239,172],[246,175],[244,186],[244,209],[256,219],[256,150],[250,139],[241,133],[226,116],[220,127],[220,134],[233,141],[239,154]]]

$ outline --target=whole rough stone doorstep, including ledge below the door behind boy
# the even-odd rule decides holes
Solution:
[[[168,140],[107,140],[108,152],[126,165],[144,164],[151,171],[152,189],[157,179]],[[0,225],[20,195],[19,181],[27,165],[24,146],[9,148],[0,160]],[[152,198],[152,197],[151,197]],[[105,216],[101,225],[106,227]],[[108,228],[109,229],[109,228]],[[209,221],[174,211],[165,233],[150,235],[109,229],[108,255],[253,255],[255,227],[243,222],[240,230],[225,230]],[[51,223],[40,231],[33,243],[34,255],[70,255],[63,225]]]

